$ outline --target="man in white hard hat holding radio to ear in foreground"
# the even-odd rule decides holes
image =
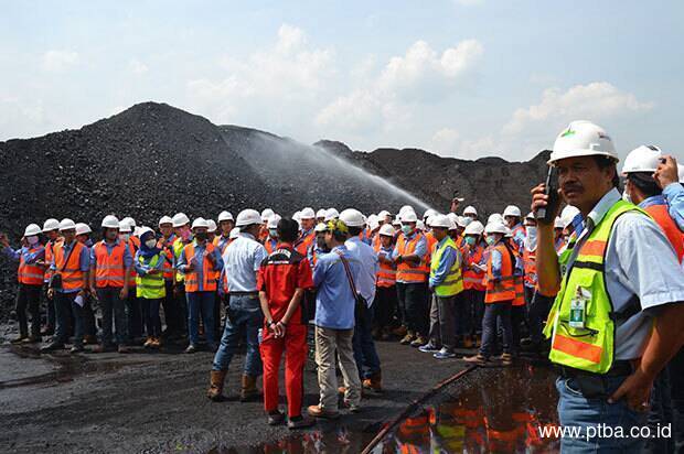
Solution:
[[[549,165],[559,194],[584,224],[558,258],[553,223],[538,223],[539,292],[557,293],[545,334],[559,366],[560,424],[585,435],[598,424],[630,433],[646,422],[653,380],[684,344],[684,271],[662,230],[617,191],[618,155],[607,132],[575,121],[557,137]],[[544,185],[532,210],[551,209]],[[643,439],[564,437],[563,451],[640,452]]]

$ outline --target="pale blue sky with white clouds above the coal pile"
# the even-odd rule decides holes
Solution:
[[[3,1],[0,141],[148,100],[306,143],[512,161],[570,121],[677,154],[681,1]],[[681,154],[681,153],[680,153]]]

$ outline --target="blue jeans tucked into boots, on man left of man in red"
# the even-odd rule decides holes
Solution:
[[[259,299],[254,296],[231,296],[226,316],[226,326],[223,329],[221,345],[214,356],[212,370],[227,370],[237,352],[242,336],[247,337],[247,355],[245,356],[245,375],[258,377],[261,375],[261,356],[259,355],[258,332],[264,325],[264,315]]]

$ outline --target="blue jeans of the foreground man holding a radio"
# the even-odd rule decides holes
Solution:
[[[603,393],[610,396],[627,377],[603,377]],[[644,440],[628,437],[630,429],[643,426],[646,423],[646,412],[637,412],[627,406],[624,399],[616,403],[608,403],[606,398],[587,399],[579,391],[577,379],[558,377],[558,418],[560,425],[581,428],[579,436],[565,436],[560,440],[563,453],[639,453]],[[598,431],[602,430],[599,437]],[[616,428],[622,431],[623,437],[608,436],[606,430],[610,428],[614,434]],[[588,436],[589,435],[589,436]],[[591,436],[594,435],[594,436]]]

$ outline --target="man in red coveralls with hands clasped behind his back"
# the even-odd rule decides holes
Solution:
[[[282,218],[277,228],[280,242],[261,262],[257,279],[264,312],[259,347],[264,363],[264,409],[270,425],[285,421],[278,409],[278,369],[285,350],[287,425],[289,429],[301,429],[314,424],[314,420],[301,414],[307,325],[300,309],[304,290],[313,288],[313,279],[308,259],[292,248],[299,230],[297,221]]]

